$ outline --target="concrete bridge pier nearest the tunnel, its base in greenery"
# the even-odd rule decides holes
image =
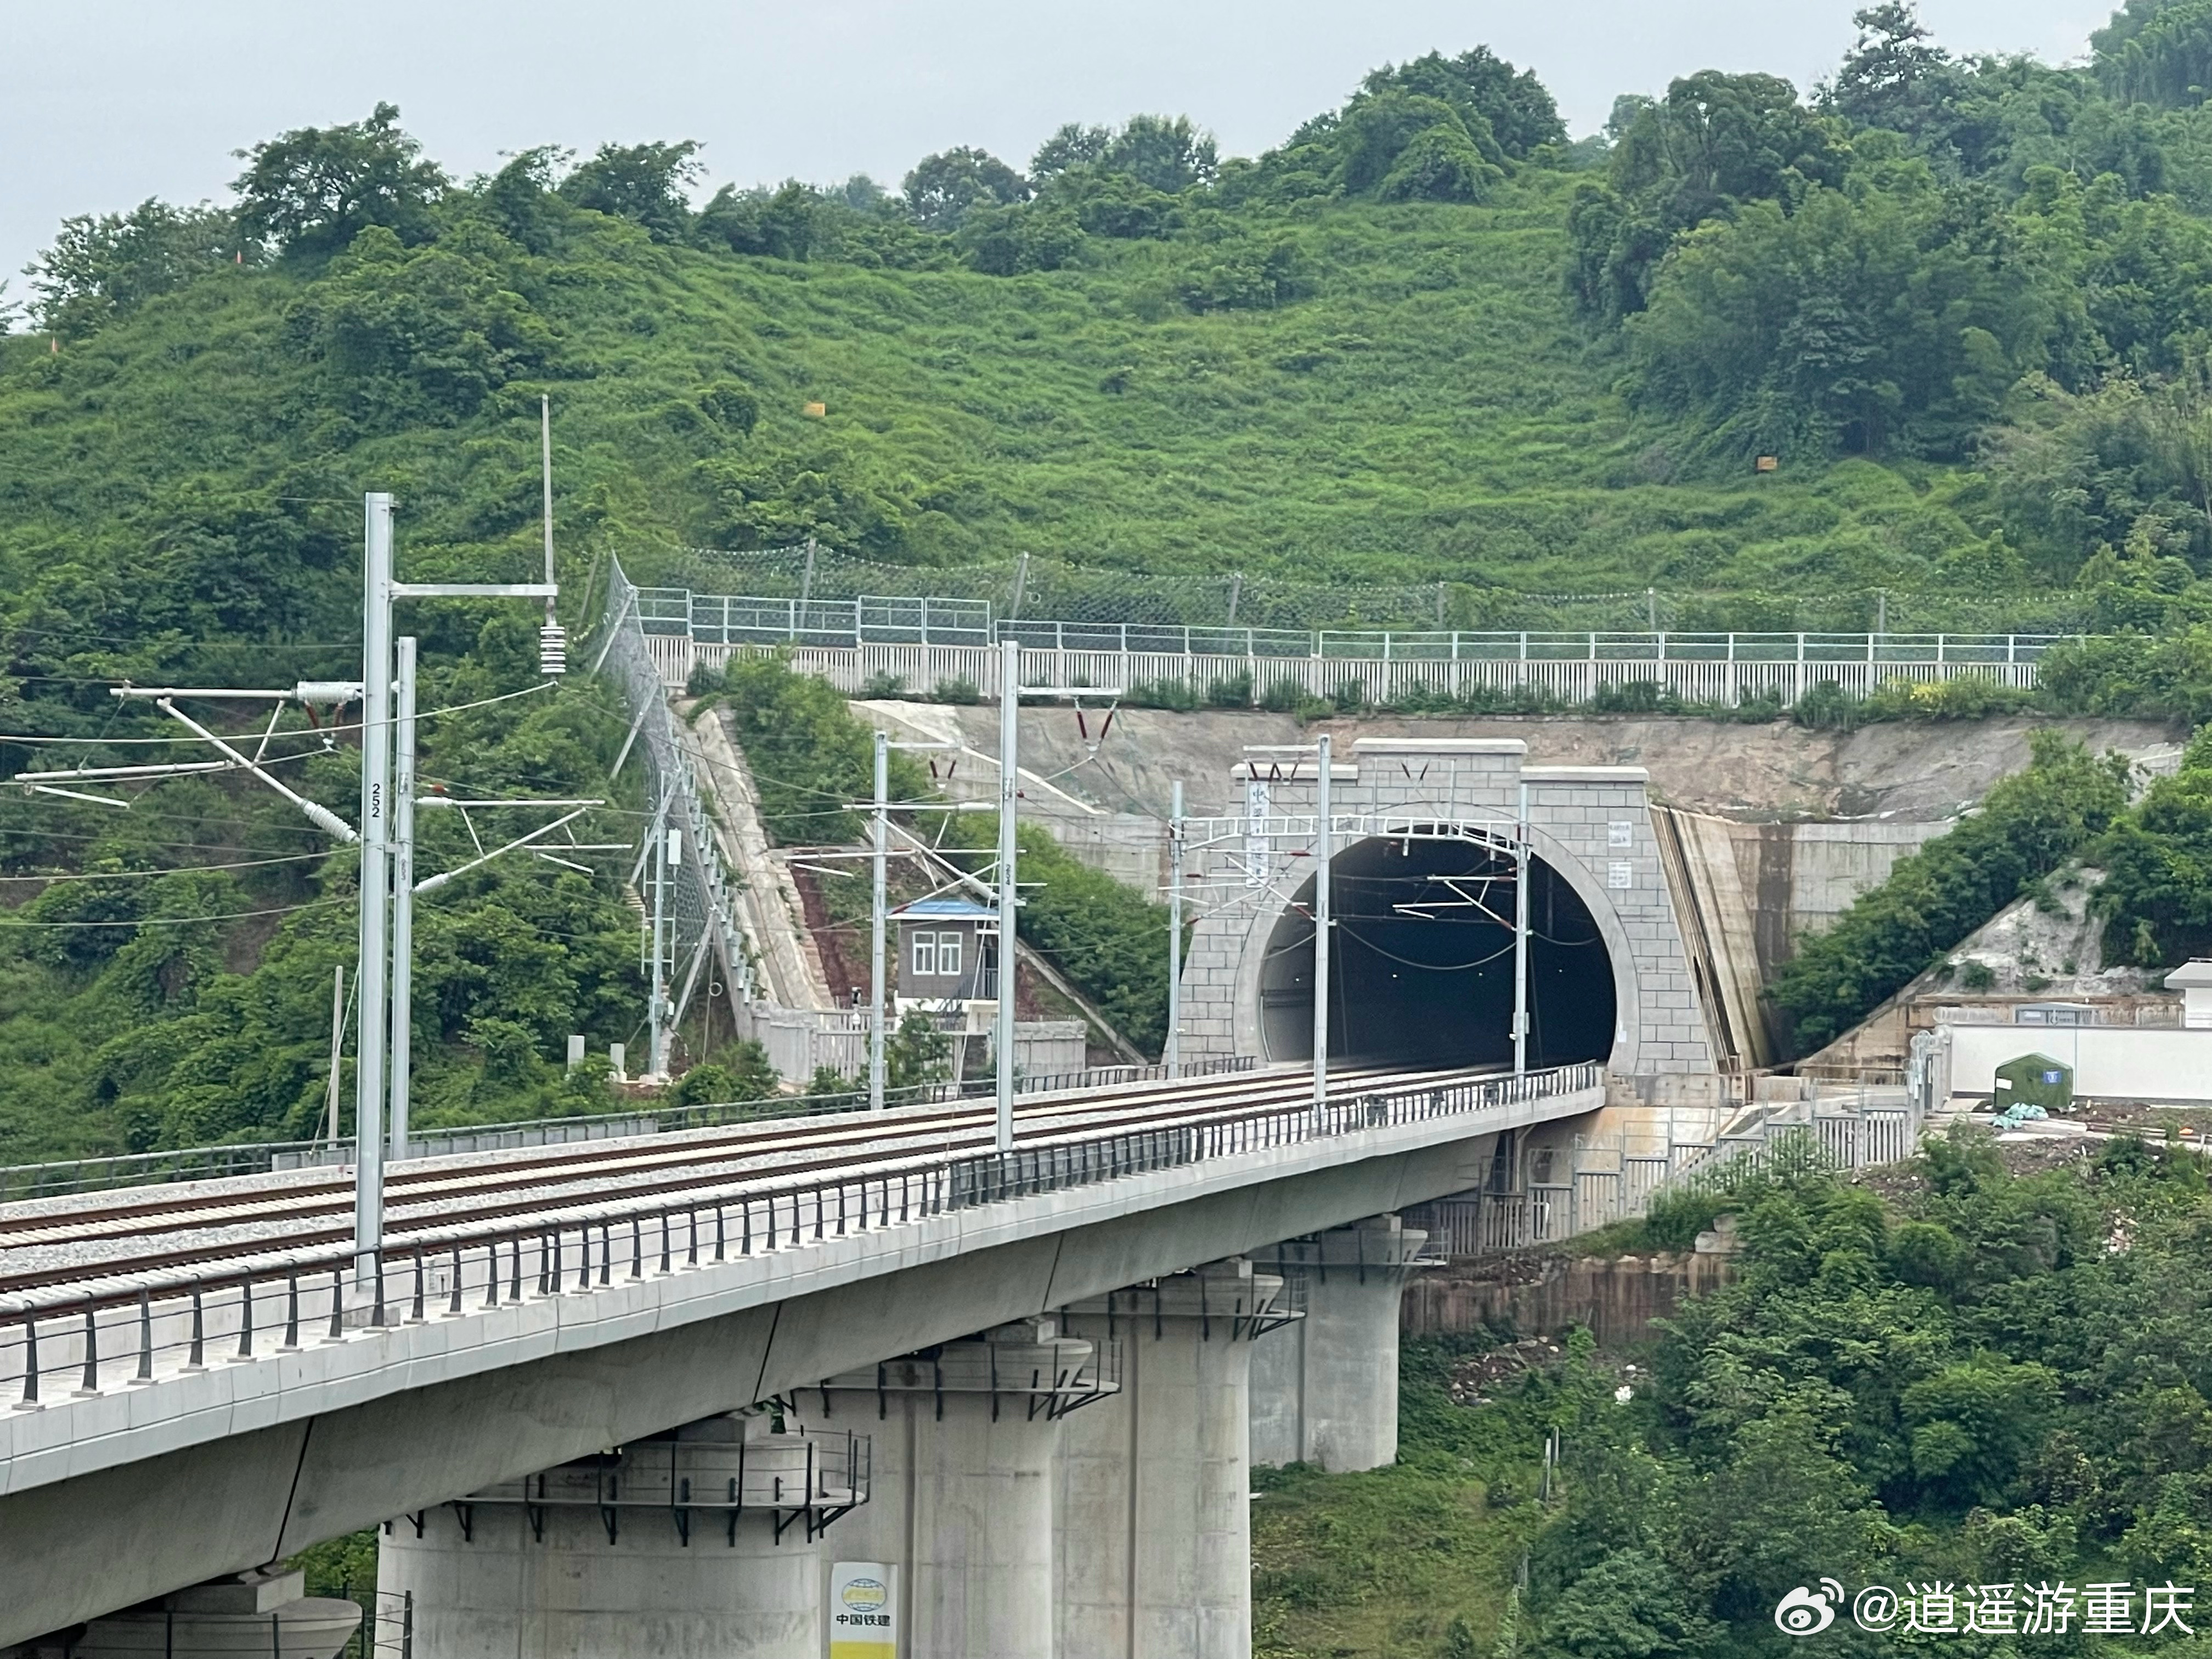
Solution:
[[[1396,1462],[1398,1301],[1427,1237],[1385,1214],[1252,1252],[1305,1307],[1252,1352],[1254,1464]]]

